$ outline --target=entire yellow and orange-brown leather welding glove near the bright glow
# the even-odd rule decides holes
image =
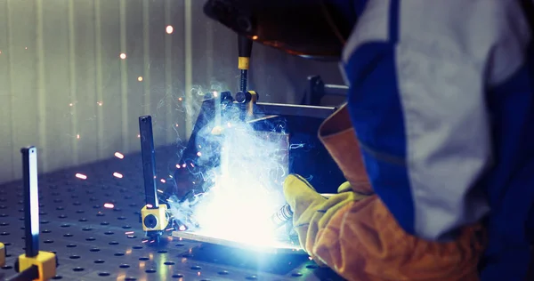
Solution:
[[[376,195],[351,191],[347,183],[338,191],[322,197],[298,175],[284,182],[295,232],[319,265],[347,280],[478,280],[480,225],[465,227],[455,241],[426,241],[401,229]]]

